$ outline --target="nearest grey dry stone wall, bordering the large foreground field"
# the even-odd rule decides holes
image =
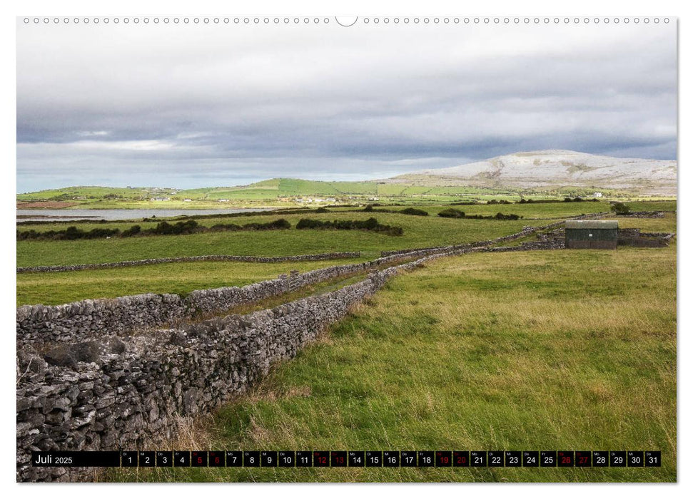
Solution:
[[[27,344],[17,355],[17,479],[84,479],[84,470],[32,467],[31,451],[146,446],[174,427],[175,415],[210,411],[242,393],[390,277],[434,257],[245,316],[138,336],[103,331],[91,341],[64,341],[57,353]],[[53,365],[60,359],[69,362]]]

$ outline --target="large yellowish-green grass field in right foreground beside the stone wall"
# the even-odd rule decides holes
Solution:
[[[676,480],[676,246],[467,254],[390,281],[199,450],[660,450],[662,468],[191,468],[143,481]]]

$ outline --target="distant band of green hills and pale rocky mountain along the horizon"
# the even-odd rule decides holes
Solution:
[[[521,197],[676,196],[677,162],[609,158],[570,150],[540,150],[375,181],[323,182],[270,178],[250,185],[203,187],[64,187],[19,194],[34,208],[218,208],[354,202],[467,202]],[[310,198],[310,199],[308,199]]]

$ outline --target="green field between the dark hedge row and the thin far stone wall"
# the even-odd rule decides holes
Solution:
[[[318,220],[365,220],[373,214],[312,215]],[[270,220],[267,217],[263,220]],[[285,217],[295,227],[298,215]],[[183,257],[201,254],[284,256],[337,251],[361,251],[365,257],[385,249],[450,245],[512,234],[522,220],[453,220],[378,213],[386,225],[404,228],[403,236],[363,230],[273,230],[209,232],[179,236],[113,237],[109,240],[18,241],[17,266],[119,262],[128,259]],[[433,220],[431,220],[433,219]],[[233,219],[235,222],[238,219]],[[248,219],[251,221],[251,219]],[[126,225],[129,226],[129,225]],[[104,225],[106,227],[106,225]]]

